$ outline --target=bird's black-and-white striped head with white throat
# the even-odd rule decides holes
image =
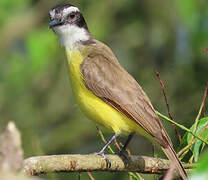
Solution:
[[[58,35],[62,46],[75,46],[91,37],[79,9],[71,4],[60,4],[49,11],[49,28]]]

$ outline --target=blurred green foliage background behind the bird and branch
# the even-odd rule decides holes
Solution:
[[[94,123],[84,117],[72,96],[64,49],[48,29],[48,11],[62,2],[69,1],[0,0],[0,128],[8,121],[16,123],[25,157],[89,153],[103,146]],[[208,80],[208,52],[203,51],[208,47],[208,1],[70,3],[83,12],[94,37],[113,49],[155,108],[167,114],[154,70],[160,72],[174,120],[190,127]],[[163,124],[177,146],[171,125]],[[111,135],[104,133],[106,138]],[[151,143],[140,136],[129,149],[152,156]],[[95,179],[128,179],[127,173],[92,174]],[[63,173],[49,179],[77,176]],[[83,173],[82,179],[89,177]]]

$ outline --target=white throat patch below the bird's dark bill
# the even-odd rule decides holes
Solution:
[[[54,31],[58,35],[61,46],[74,48],[80,41],[89,40],[89,32],[84,29],[77,27],[76,25],[62,25],[54,28]]]

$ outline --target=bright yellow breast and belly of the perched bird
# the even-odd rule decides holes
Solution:
[[[80,72],[83,57],[79,51],[67,51],[67,58],[73,92],[80,109],[89,119],[118,134],[138,132],[148,137],[138,124],[106,104],[85,87]]]

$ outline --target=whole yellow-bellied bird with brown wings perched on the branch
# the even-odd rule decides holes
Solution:
[[[79,9],[61,4],[50,10],[49,27],[66,49],[69,78],[83,113],[115,134],[98,153],[120,134],[134,132],[157,142],[173,161],[183,179],[186,172],[159,117],[137,81],[119,64],[111,49],[89,32]]]

